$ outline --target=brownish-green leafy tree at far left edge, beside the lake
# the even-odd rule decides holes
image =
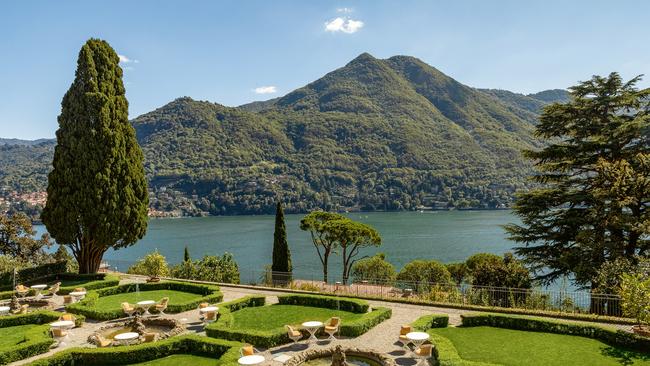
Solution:
[[[50,237],[43,234],[35,239],[32,220],[24,213],[0,215],[0,255],[8,255],[22,262],[36,262],[43,257],[43,248],[51,245]]]

